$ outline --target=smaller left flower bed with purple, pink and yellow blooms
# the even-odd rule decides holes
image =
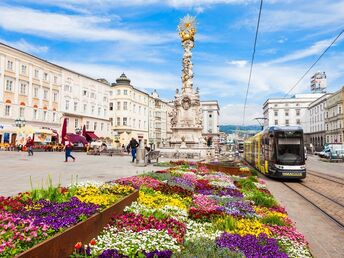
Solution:
[[[0,257],[13,257],[65,232],[134,191],[115,183],[50,185],[14,197],[0,196]]]

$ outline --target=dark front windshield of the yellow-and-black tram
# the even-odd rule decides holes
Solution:
[[[277,139],[277,163],[281,165],[304,164],[301,138],[279,137]]]

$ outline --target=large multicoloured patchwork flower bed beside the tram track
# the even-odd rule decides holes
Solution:
[[[72,257],[312,257],[262,180],[176,164],[117,180],[137,202]]]

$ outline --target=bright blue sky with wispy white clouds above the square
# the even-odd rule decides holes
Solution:
[[[197,17],[194,86],[217,99],[221,123],[241,124],[258,0],[2,0],[0,41],[94,78],[122,72],[172,99],[181,86],[179,19]],[[283,97],[344,28],[342,0],[265,0],[246,124],[269,97]],[[325,71],[328,91],[344,85],[340,38],[293,93]]]

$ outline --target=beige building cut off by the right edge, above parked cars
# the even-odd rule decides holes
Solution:
[[[326,100],[326,143],[343,143],[344,139],[344,87]]]

